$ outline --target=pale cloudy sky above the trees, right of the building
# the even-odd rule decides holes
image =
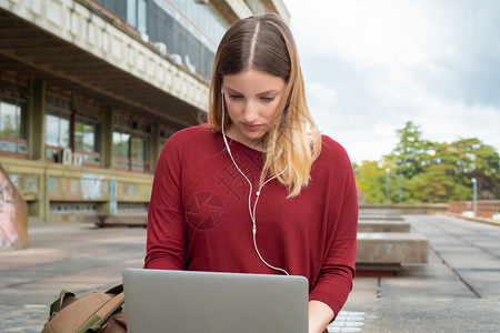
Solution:
[[[283,0],[312,115],[353,162],[423,140],[500,153],[500,1]]]

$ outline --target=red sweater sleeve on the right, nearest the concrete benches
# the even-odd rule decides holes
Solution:
[[[331,216],[338,219],[337,223],[331,224],[336,225],[332,241],[317,283],[309,295],[310,300],[318,300],[329,305],[336,316],[352,290],[352,280],[356,274],[358,193],[350,162],[346,170],[348,170],[347,181],[340,212],[331,213]],[[336,206],[333,202],[331,206]]]

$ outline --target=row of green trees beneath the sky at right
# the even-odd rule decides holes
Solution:
[[[358,186],[368,203],[386,202],[387,168],[390,202],[398,202],[400,172],[404,203],[471,200],[472,178],[479,199],[500,199],[500,158],[492,147],[477,138],[430,142],[411,121],[397,133],[399,142],[391,154],[356,168]]]

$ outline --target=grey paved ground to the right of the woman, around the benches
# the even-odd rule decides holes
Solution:
[[[363,324],[358,332],[500,332],[500,226],[436,215],[404,220],[429,239],[429,264],[354,279],[344,310],[362,320],[351,324]]]

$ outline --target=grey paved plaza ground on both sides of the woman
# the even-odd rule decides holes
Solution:
[[[330,332],[500,332],[500,226],[404,218],[429,239],[429,263],[356,278]],[[0,332],[40,332],[61,287],[106,290],[144,255],[142,228],[48,223],[30,225],[29,235],[28,250],[0,252]]]

